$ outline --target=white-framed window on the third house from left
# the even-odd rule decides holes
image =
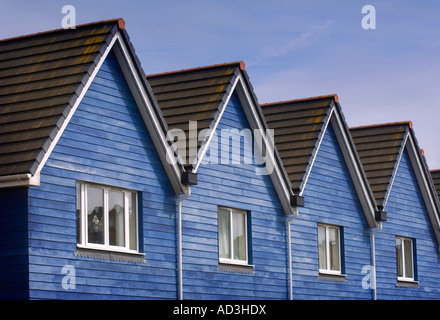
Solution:
[[[318,224],[319,272],[341,274],[340,228]]]

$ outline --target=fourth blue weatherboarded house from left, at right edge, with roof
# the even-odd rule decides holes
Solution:
[[[377,299],[440,297],[439,202],[411,122],[350,129],[379,208]]]

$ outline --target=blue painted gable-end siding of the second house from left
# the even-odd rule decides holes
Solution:
[[[220,130],[245,128],[249,124],[234,93],[218,125],[219,153]],[[241,144],[241,155],[248,146]],[[185,299],[288,298],[286,218],[270,177],[256,175],[255,168],[255,162],[244,164],[243,159],[241,164],[199,167],[198,185],[182,209]],[[217,270],[218,206],[248,211],[253,274]]]

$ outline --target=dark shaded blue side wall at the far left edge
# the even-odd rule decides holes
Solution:
[[[0,299],[28,299],[27,188],[0,189]]]

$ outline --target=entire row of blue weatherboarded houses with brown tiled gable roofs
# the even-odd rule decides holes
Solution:
[[[440,297],[410,123],[260,106],[243,62],[146,76],[116,19],[0,41],[0,124],[3,299]]]

